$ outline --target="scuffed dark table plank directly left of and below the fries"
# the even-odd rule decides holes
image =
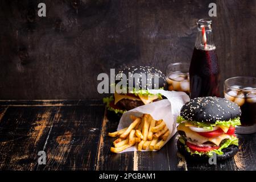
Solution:
[[[118,122],[117,117],[107,117],[105,111],[96,170],[133,170],[133,152],[122,154],[110,152],[110,147],[113,146],[115,138],[108,137],[108,133],[117,130]]]

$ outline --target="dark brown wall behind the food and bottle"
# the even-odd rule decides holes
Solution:
[[[47,17],[38,16],[46,3]],[[256,76],[255,1],[0,1],[0,99],[101,98],[97,75],[125,65],[190,61],[196,20],[217,4],[225,78]]]

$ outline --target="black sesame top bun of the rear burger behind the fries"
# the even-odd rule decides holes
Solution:
[[[142,74],[144,73],[146,75],[146,78],[147,78],[147,84],[142,85],[142,79],[139,79],[139,80],[134,80],[133,82],[133,88],[139,88],[139,89],[142,89],[142,90],[147,90],[147,88],[150,88],[150,89],[159,89],[159,88],[166,88],[167,86],[167,83],[166,83],[166,76],[163,74],[162,71],[160,71],[159,69],[156,69],[154,67],[149,67],[149,66],[146,66],[146,67],[143,67],[143,66],[132,66],[132,67],[127,67],[127,68],[124,68],[124,69],[121,69],[118,73],[121,73],[119,75],[116,76],[116,80],[117,78],[121,78],[122,77],[122,74],[125,74],[127,76],[127,86],[129,84],[128,82],[128,79],[129,79],[129,73],[138,73],[138,74]],[[148,75],[150,74],[150,75]],[[153,78],[152,78],[153,77]],[[159,81],[159,87],[156,88],[156,84],[154,82],[154,77],[158,77],[158,81]],[[117,80],[117,82],[119,82],[119,80]]]

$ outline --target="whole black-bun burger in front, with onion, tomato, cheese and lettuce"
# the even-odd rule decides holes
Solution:
[[[240,123],[240,107],[225,98],[199,97],[187,102],[177,117],[177,148],[190,159],[225,160],[238,152],[234,134]]]

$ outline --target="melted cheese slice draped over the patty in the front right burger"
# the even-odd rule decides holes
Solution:
[[[196,143],[198,143],[198,144],[203,144],[204,142],[212,142],[212,143],[216,144],[216,146],[218,146],[218,145],[220,145],[222,140],[231,138],[227,134],[222,134],[218,137],[213,137],[213,138],[203,137],[203,136],[197,134],[195,131],[192,131],[191,129],[189,129],[189,127],[186,127],[183,123],[181,123],[177,127],[177,130],[184,131],[187,138],[191,138],[192,141],[196,140]]]

